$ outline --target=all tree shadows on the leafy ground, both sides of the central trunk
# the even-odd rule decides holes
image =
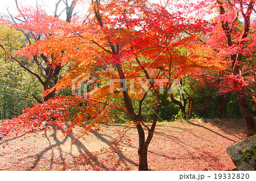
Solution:
[[[185,124],[188,124],[188,123],[185,123]],[[235,142],[234,140],[232,140],[232,139],[230,139],[226,136],[223,136],[220,133],[217,133],[217,132],[213,131],[210,128],[207,128],[204,125],[195,124],[195,123],[191,123],[191,125],[196,126],[196,127],[201,127],[203,129],[207,129],[208,131],[210,131],[210,132],[212,132],[212,133],[214,133],[218,136],[221,136],[222,138],[225,138],[229,141]],[[222,123],[214,123],[214,125],[216,125],[217,127],[222,128],[222,129],[230,128],[230,129],[228,129],[228,131],[226,131],[226,133],[237,130],[236,128],[232,127],[232,123],[230,123],[230,125],[225,125],[225,124],[222,125]],[[126,127],[126,125],[122,125],[122,127]],[[169,126],[164,126],[164,127],[168,128]],[[163,125],[161,125],[161,129],[162,128],[163,128]],[[179,130],[181,129],[179,127],[171,127],[171,128],[175,128],[175,129],[179,129]],[[185,128],[184,131],[189,132],[190,134],[192,134],[192,136],[203,139],[202,141],[208,141],[205,138],[196,135],[196,133],[193,133],[192,128],[189,128],[189,129]],[[50,135],[52,138],[50,139],[49,135],[46,134],[46,133],[47,132],[45,132],[45,137],[48,141],[47,148],[44,148],[43,150],[40,150],[40,152],[37,153],[37,154],[30,155],[26,158],[20,159],[20,161],[22,161],[24,159],[33,158],[32,159],[33,160],[32,164],[30,165],[30,167],[27,170],[36,170],[36,169],[38,169],[39,168],[38,167],[39,162],[42,161],[43,159],[45,159],[46,153],[48,153],[47,158],[49,158],[48,160],[50,162],[49,170],[56,169],[56,165],[62,166],[61,170],[69,170],[71,167],[67,166],[69,163],[67,163],[67,161],[65,159],[65,157],[67,157],[67,154],[63,154],[63,151],[65,149],[64,150],[61,149],[61,145],[67,144],[70,140],[72,141],[72,144],[69,145],[69,146],[71,146],[71,148],[73,146],[75,148],[77,148],[78,154],[80,156],[83,156],[82,158],[84,158],[81,161],[84,162],[84,163],[86,162],[86,164],[88,164],[90,166],[91,169],[89,169],[89,170],[92,170],[92,168],[93,169],[96,168],[95,170],[113,170],[113,169],[118,170],[120,168],[118,166],[110,167],[108,164],[102,162],[101,158],[98,158],[97,155],[94,155],[94,153],[89,151],[88,148],[86,148],[86,146],[83,144],[83,142],[81,142],[80,140],[78,140],[74,136],[75,134],[68,134],[67,137],[58,138],[56,129],[53,129],[53,133],[51,133],[51,135]],[[122,164],[122,166],[127,167],[127,170],[129,170],[129,165],[138,166],[137,163],[135,163],[133,160],[129,159],[125,154],[122,153],[122,150],[116,145],[116,142],[112,142],[112,140],[115,140],[113,138],[112,134],[107,135],[107,134],[103,134],[103,133],[99,133],[99,132],[92,132],[92,131],[90,133],[93,134],[93,136],[96,137],[98,140],[101,140],[106,145],[108,145],[109,148],[110,148],[110,151],[108,153],[116,154],[117,155],[117,158],[115,158],[116,161],[120,162]],[[171,131],[170,131],[170,133],[171,133]],[[220,162],[220,158],[218,158],[217,155],[215,155],[214,153],[212,153],[208,150],[200,149],[200,146],[199,147],[193,146],[192,148],[194,150],[196,150],[198,155],[193,153],[193,151],[189,148],[189,146],[187,144],[185,144],[184,141],[181,140],[179,135],[168,134],[166,132],[155,131],[155,136],[165,137],[165,138],[167,138],[167,142],[172,141],[173,143],[180,145],[182,149],[184,149],[187,153],[191,154],[191,156],[189,156],[189,154],[186,154],[187,159],[199,159],[199,157],[201,157],[201,158],[203,158],[203,160],[206,163],[208,163],[208,165],[210,167],[214,168],[215,166],[217,166],[217,167],[222,167],[223,166],[222,162]],[[22,136],[19,136],[19,137],[22,137]],[[154,139],[154,137],[153,137],[153,139]],[[16,137],[16,138],[18,138],[18,137]],[[69,138],[70,138],[70,140],[69,140]],[[15,138],[11,138],[8,141],[12,141],[14,139]],[[210,142],[210,141],[208,141],[208,142]],[[124,144],[126,146],[129,146],[128,144],[125,144],[125,142],[122,142],[122,144]],[[135,146],[131,146],[131,148],[136,149],[136,150],[138,149]],[[197,150],[197,149],[199,149],[199,150]],[[56,150],[58,152],[57,154],[56,154]],[[51,151],[51,154],[49,154],[49,151]],[[167,153],[164,153],[164,152],[159,152],[158,150],[148,150],[148,153],[153,154],[153,156],[155,156],[155,157],[164,157],[165,159],[169,159],[171,161],[174,161],[176,159],[177,160],[183,159],[181,157],[176,158],[176,157],[172,156],[173,154],[170,151],[168,151],[168,154],[167,154]],[[102,153],[102,154],[104,154],[104,153]],[[84,163],[81,163],[81,162],[77,163],[77,154],[75,155],[73,153],[69,153],[69,155],[73,158],[72,159],[73,168],[75,170],[81,170],[80,166],[83,165]],[[59,160],[57,160],[56,157]]]

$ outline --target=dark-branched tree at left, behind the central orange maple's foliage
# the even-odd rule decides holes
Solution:
[[[59,19],[58,17],[62,13],[61,12],[60,14],[57,14],[57,10],[61,1],[58,1],[56,3],[54,16],[48,15],[46,11],[40,9],[39,5],[37,5],[36,8],[20,7],[18,0],[15,0],[15,2],[19,14],[15,16],[11,15],[9,12],[10,17],[7,19],[2,18],[2,23],[22,32],[24,36],[26,36],[26,39],[30,45],[35,42],[35,44],[40,44],[40,40],[42,39],[51,39],[50,37],[55,31],[54,28],[51,28],[51,23]],[[70,5],[68,4],[68,1],[65,1],[64,3],[64,10],[66,10],[67,17],[65,21],[69,23],[71,22],[71,18],[73,16],[73,10],[75,8],[76,1],[72,0]],[[27,46],[21,49],[19,52],[16,52],[16,54],[12,54],[12,52],[7,50],[3,44],[5,44],[5,42],[0,43],[0,47],[2,48],[2,50],[4,50],[5,53],[8,54],[12,60],[16,61],[24,70],[28,71],[28,73],[30,73],[31,75],[34,75],[43,86],[44,91],[57,83],[60,70],[63,68],[64,65],[61,66],[60,64],[55,64],[54,62],[60,61],[60,59],[58,59],[57,57],[61,56],[61,52],[64,51],[64,49],[52,52],[40,52],[40,49],[42,48],[38,47],[38,49],[31,50],[29,46]],[[52,48],[54,47],[54,44],[48,45],[52,46]],[[21,61],[20,59],[23,61]],[[34,60],[34,63],[39,69],[39,73],[31,70],[29,67],[26,66],[26,61],[24,60],[28,61],[30,59]],[[32,94],[32,96],[34,96],[34,98],[39,103],[42,103],[42,101],[37,96],[35,96],[34,94]],[[51,96],[54,96],[54,94],[52,93]],[[51,96],[44,96],[44,101]]]

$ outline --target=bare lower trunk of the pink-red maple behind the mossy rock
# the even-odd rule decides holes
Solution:
[[[249,106],[248,99],[245,93],[237,92],[237,99],[242,112],[243,119],[245,120],[247,137],[253,136],[255,131],[255,121],[253,118],[253,113]]]

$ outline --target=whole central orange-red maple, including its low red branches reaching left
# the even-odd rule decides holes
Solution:
[[[72,86],[74,79],[84,75],[96,79],[91,81],[86,99],[76,96],[45,99],[23,115],[3,121],[0,128],[6,134],[29,133],[51,126],[65,128],[68,133],[75,125],[82,125],[87,131],[100,121],[108,121],[111,111],[118,110],[127,113],[137,128],[139,170],[148,170],[148,145],[174,79],[199,68],[225,67],[212,56],[212,49],[199,44],[200,33],[208,30],[207,22],[184,18],[180,12],[170,12],[167,6],[146,0],[92,1],[88,14],[70,22],[49,16],[39,7],[25,10],[28,15],[33,12],[32,20],[15,26],[44,36],[20,53],[51,57],[46,59],[46,65],[51,66],[47,81],[57,66],[69,64],[64,77],[51,89],[44,89],[46,98],[51,92]],[[80,85],[72,87],[77,88]],[[148,94],[154,94],[150,104],[144,102]],[[77,109],[75,115],[70,112],[72,107]],[[143,116],[145,107],[153,112],[152,120]],[[77,136],[82,134],[85,133]]]

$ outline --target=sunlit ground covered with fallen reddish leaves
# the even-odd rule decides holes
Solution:
[[[138,170],[138,134],[130,124],[102,125],[77,139],[55,129],[0,141],[0,170]],[[226,147],[246,137],[243,120],[158,123],[150,170],[232,170]]]

